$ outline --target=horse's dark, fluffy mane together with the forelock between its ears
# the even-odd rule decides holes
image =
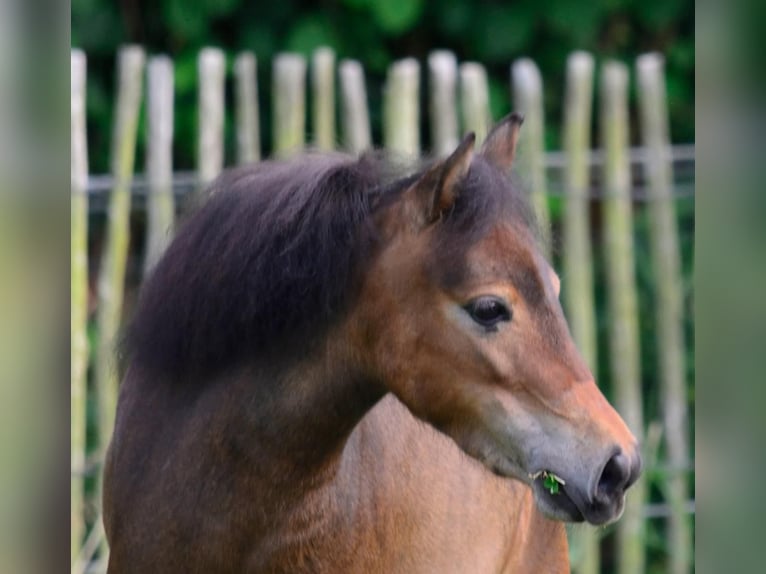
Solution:
[[[531,222],[507,178],[474,163],[469,193],[445,220],[462,241],[446,243],[470,243],[499,211]],[[417,177],[396,180],[395,172],[374,154],[226,172],[144,283],[122,360],[172,379],[202,378],[316,340],[353,304],[377,240],[371,214]]]

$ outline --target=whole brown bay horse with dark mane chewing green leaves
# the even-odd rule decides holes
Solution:
[[[110,573],[567,572],[564,522],[619,517],[639,450],[508,176],[521,122],[414,175],[213,184],[125,336]]]

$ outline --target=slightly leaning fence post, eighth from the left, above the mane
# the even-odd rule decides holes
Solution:
[[[364,70],[356,60],[343,60],[338,66],[338,76],[343,110],[343,146],[349,152],[358,154],[372,146]]]

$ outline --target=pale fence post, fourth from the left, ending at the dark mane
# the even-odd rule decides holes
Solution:
[[[223,110],[226,56],[218,48],[203,48],[197,59],[199,75],[199,140],[197,170],[200,188],[223,169]]]

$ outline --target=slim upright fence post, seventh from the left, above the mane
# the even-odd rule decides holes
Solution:
[[[317,48],[311,59],[312,119],[314,144],[321,150],[335,149],[335,52]]]

